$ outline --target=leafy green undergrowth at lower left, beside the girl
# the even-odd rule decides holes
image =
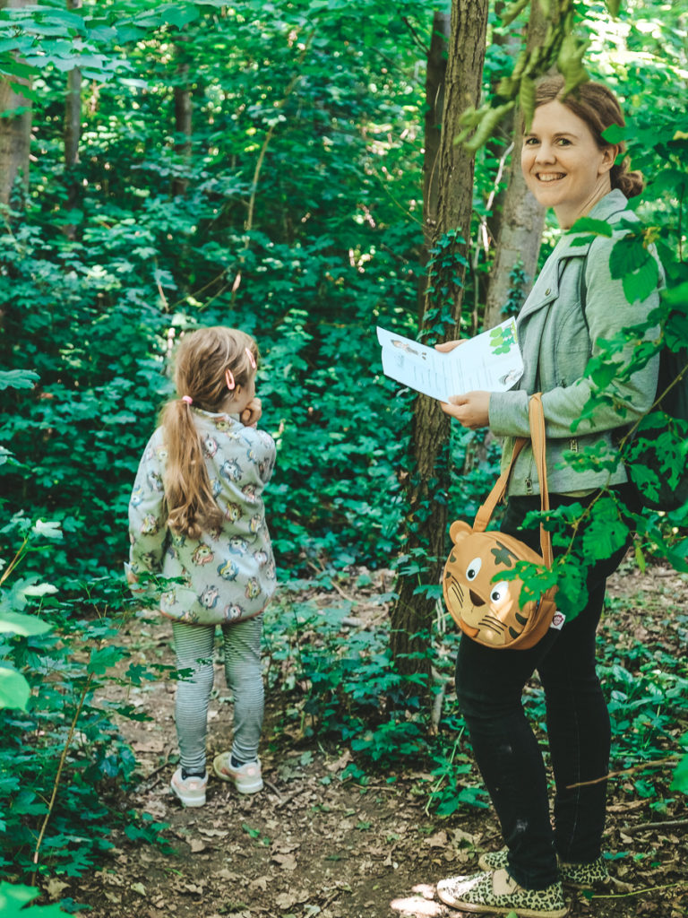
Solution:
[[[17,553],[0,577],[0,878],[77,877],[102,862],[115,826],[150,842],[164,828],[122,808],[137,763],[115,719],[148,715],[103,695],[169,667],[125,666],[117,580],[57,588],[17,574],[27,553],[44,554],[41,539],[60,539],[59,527],[16,518],[4,534]],[[34,898],[6,884],[3,895],[8,909]]]

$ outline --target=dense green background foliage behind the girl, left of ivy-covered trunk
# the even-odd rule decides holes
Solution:
[[[86,4],[82,31],[62,17],[64,28],[127,71],[97,95],[86,86],[88,156],[68,177],[58,50],[42,19],[22,17],[12,28],[45,56],[41,156],[28,210],[1,240],[0,296],[12,305],[0,361],[11,373],[30,365],[40,384],[17,391],[0,422],[17,456],[0,468],[8,509],[61,523],[64,569],[118,567],[133,473],[171,388],[171,336],[231,323],[263,353],[279,561],[393,553],[407,415],[381,379],[373,332],[382,316],[411,330],[416,306],[420,230],[402,211],[415,207],[420,148],[400,137],[420,104],[412,33],[379,16],[361,28],[322,4]],[[192,73],[188,160],[174,150],[177,28]],[[373,47],[394,48],[393,70],[380,72]],[[82,190],[67,211],[72,177]],[[172,196],[177,178],[185,196]]]

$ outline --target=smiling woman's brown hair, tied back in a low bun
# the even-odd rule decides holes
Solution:
[[[610,146],[602,132],[613,124],[619,128],[626,127],[626,121],[616,99],[616,95],[601,83],[583,83],[577,86],[566,98],[561,98],[564,89],[564,78],[556,76],[545,77],[536,86],[535,107],[545,106],[548,102],[560,102],[569,108],[574,115],[581,118],[590,128],[594,141],[600,150]],[[626,144],[616,144],[619,151],[626,151]],[[618,188],[627,197],[635,197],[643,190],[643,177],[639,172],[628,171],[628,158],[612,166],[609,177],[612,188]]]

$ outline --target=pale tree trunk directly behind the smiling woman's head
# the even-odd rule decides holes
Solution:
[[[552,15],[558,16],[557,5],[552,6]],[[532,3],[527,28],[528,51],[542,44],[548,21],[539,3]],[[509,311],[515,311],[527,297],[538,267],[544,223],[545,209],[527,190],[521,173],[521,124],[516,116],[509,181],[485,301],[486,329],[505,318],[502,311],[505,307],[510,306]],[[515,269],[520,274],[517,278],[512,276]]]

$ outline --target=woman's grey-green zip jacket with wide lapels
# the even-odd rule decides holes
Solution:
[[[606,220],[612,226],[621,218],[636,220],[627,210],[627,198],[618,189],[598,201],[588,214]],[[612,277],[609,256],[616,240],[626,230],[615,230],[611,239],[604,236],[584,245],[574,246],[574,235],[561,237],[549,255],[530,296],[516,319],[518,343],[523,354],[524,374],[516,389],[493,392],[490,396],[490,428],[504,437],[502,467],[508,465],[515,437],[529,437],[528,397],[542,392],[547,431],[547,468],[549,491],[571,494],[598,487],[619,485],[627,481],[626,469],[619,460],[616,469],[594,468],[576,471],[564,453],[577,452],[588,446],[605,444],[617,452],[614,431],[632,424],[646,414],[657,391],[659,357],[653,357],[627,382],[615,380],[618,404],[600,405],[592,419],[581,421],[575,433],[571,423],[581,418],[594,384],[584,377],[591,356],[600,352],[598,341],[609,339],[619,330],[647,319],[659,305],[659,291],[647,299],[629,303],[622,280]],[[581,304],[585,270],[585,313]],[[660,276],[662,275],[660,269]],[[647,338],[657,337],[649,330]],[[629,354],[626,355],[628,359]],[[538,494],[538,476],[529,445],[516,459],[509,480],[508,494]]]

